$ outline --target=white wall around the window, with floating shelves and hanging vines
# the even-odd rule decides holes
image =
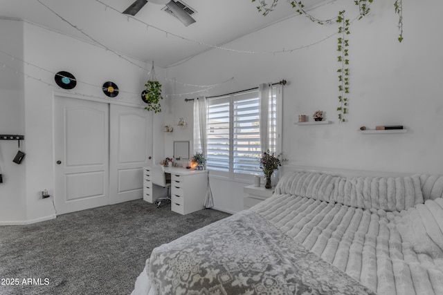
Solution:
[[[350,3],[350,4],[348,4]],[[218,95],[287,79],[284,86],[283,151],[289,164],[372,171],[443,174],[443,81],[440,49],[443,38],[435,11],[436,0],[404,0],[404,41],[397,41],[397,15],[393,1],[374,1],[370,16],[355,21],[350,39],[350,114],[339,124],[336,36],[292,53],[234,53],[210,50],[184,64],[168,68],[170,79],[188,84],[217,84],[234,77],[206,95]],[[280,1],[279,6],[290,5]],[[356,16],[352,1],[336,1],[316,10],[316,15],[334,17],[346,8]],[[253,8],[251,8],[253,9]],[[272,13],[272,12],[271,12]],[[313,44],[337,30],[318,26],[305,17],[253,32],[227,48],[276,51]],[[194,91],[186,87],[174,93]],[[196,95],[195,95],[196,96]],[[183,96],[174,99],[174,116],[192,118],[192,107]],[[188,98],[193,98],[188,95]],[[188,103],[192,104],[192,103]],[[333,124],[295,126],[298,115],[311,117],[321,109]],[[175,113],[175,112],[179,113]],[[310,118],[311,119],[311,118]],[[360,126],[403,124],[407,133],[362,135]],[[179,136],[179,133],[174,133]],[[211,178],[215,207],[242,209],[242,184]]]

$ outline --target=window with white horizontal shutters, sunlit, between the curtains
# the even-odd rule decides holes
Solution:
[[[281,86],[269,95],[269,149],[280,148]],[[206,166],[212,171],[259,174],[260,99],[258,90],[208,99]]]

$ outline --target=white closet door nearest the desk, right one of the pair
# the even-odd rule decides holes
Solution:
[[[152,164],[152,112],[112,104],[110,203],[143,198],[143,166]]]

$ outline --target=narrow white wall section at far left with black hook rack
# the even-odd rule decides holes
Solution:
[[[0,45],[0,134],[24,135],[24,76],[16,73],[23,72],[19,61],[23,58],[23,23],[0,20],[0,36],[8,40]],[[4,53],[14,53],[18,59]],[[21,141],[21,149],[24,145]],[[0,140],[0,220],[24,220],[26,216],[25,166],[12,162],[18,149],[17,141]]]

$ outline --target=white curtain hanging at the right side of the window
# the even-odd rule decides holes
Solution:
[[[262,153],[269,149],[269,95],[271,95],[272,84],[263,83],[258,86],[258,97],[260,99],[260,147]]]

